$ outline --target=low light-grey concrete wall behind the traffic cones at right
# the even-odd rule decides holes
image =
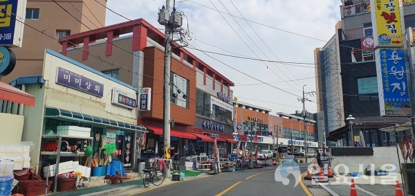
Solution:
[[[358,150],[358,148],[356,148]],[[396,147],[377,147],[374,148],[374,155],[373,156],[333,156],[333,160],[331,160],[331,168],[335,170],[336,166],[338,166],[338,173],[342,174],[345,172],[344,166],[349,168],[349,172],[364,172],[365,168],[370,164],[374,163],[375,168],[379,169],[382,165],[385,164],[392,164],[396,167],[399,166],[398,156],[400,161],[402,161],[402,156],[396,153]],[[362,169],[359,171],[359,165],[362,164]]]

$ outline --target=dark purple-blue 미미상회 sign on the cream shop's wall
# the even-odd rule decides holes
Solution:
[[[83,75],[73,73],[72,71],[63,69],[59,66],[57,67],[56,83],[90,93],[100,98],[104,95],[104,84],[86,78]]]

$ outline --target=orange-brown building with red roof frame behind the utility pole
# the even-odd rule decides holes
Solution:
[[[125,35],[132,33],[132,35]],[[144,19],[77,33],[62,39],[62,54],[133,87],[151,89],[151,109],[138,115],[149,130],[142,155],[163,154],[163,70],[165,35]],[[100,41],[101,40],[101,41]],[[75,46],[82,44],[82,46]],[[85,53],[84,51],[88,51]],[[183,47],[172,50],[171,154],[230,153],[232,139],[232,81]]]

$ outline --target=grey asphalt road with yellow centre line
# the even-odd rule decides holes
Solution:
[[[300,165],[300,172],[305,172],[307,166]],[[299,184],[295,186],[293,175],[288,175],[290,183],[287,186],[275,181],[276,168],[274,166],[225,172],[162,186],[136,195],[306,195]]]

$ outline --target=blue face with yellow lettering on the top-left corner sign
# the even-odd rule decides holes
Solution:
[[[0,45],[13,45],[17,4],[17,0],[0,1]]]

